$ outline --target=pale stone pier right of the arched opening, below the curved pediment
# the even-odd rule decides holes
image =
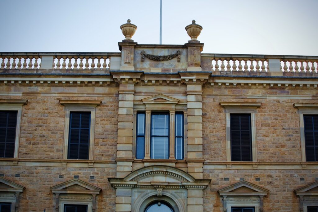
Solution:
[[[187,199],[188,211],[202,212],[203,211],[203,189],[192,189],[188,188],[188,199]]]

